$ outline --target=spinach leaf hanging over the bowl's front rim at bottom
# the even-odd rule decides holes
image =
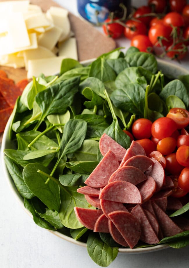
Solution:
[[[97,265],[107,267],[117,257],[118,247],[112,248],[100,239],[99,234],[90,233],[87,240],[87,251]]]

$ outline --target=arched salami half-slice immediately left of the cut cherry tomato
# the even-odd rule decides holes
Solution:
[[[153,163],[152,159],[147,156],[133,156],[125,162],[124,166],[137,167],[142,172],[145,172]]]

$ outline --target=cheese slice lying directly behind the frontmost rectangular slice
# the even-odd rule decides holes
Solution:
[[[42,58],[51,58],[55,57],[55,54],[47,49],[46,47],[38,46],[37,49],[30,49],[23,51],[24,62],[26,71],[28,69],[28,60],[42,59]]]

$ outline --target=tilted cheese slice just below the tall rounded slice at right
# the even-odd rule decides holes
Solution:
[[[51,50],[55,47],[61,34],[62,34],[62,29],[54,26],[49,31],[42,33],[38,37],[38,45],[42,47],[46,47],[49,50]]]

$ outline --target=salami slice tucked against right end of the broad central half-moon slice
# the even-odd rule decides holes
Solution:
[[[151,176],[146,176],[146,180],[139,183],[137,188],[142,196],[142,203],[145,203],[147,200],[153,196],[156,192],[156,182]]]

